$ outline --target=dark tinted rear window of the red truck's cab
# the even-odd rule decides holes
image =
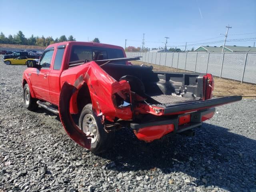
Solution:
[[[71,50],[70,62],[78,60],[95,61],[123,57],[124,53],[121,49],[74,45]],[[116,61],[112,63],[126,64],[125,61]]]

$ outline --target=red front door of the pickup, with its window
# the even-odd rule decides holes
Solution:
[[[51,102],[49,93],[49,74],[50,67],[52,65],[53,53],[54,48],[46,49],[39,62],[41,68],[34,70],[31,74],[32,89],[34,90],[36,96],[48,102]]]

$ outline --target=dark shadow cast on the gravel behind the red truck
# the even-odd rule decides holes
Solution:
[[[116,132],[113,149],[100,156],[112,161],[108,169],[119,172],[136,171],[138,176],[159,170],[164,174],[183,172],[196,178],[190,185],[236,191],[256,184],[255,148],[256,140],[203,123],[193,138],[176,135],[162,143],[141,142],[129,130],[121,130]]]

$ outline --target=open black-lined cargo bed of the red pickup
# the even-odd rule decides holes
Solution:
[[[202,100],[200,73],[153,71],[146,66],[106,64],[102,67],[115,80],[127,80],[132,92],[152,105],[169,105]]]

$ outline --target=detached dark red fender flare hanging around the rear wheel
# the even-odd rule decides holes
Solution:
[[[70,99],[72,94],[77,91],[77,88],[64,82],[62,89],[60,90],[59,98],[59,115],[62,125],[66,130],[67,134],[77,144],[82,147],[91,148],[91,139],[80,130],[80,128],[74,123],[74,120],[70,114]]]

